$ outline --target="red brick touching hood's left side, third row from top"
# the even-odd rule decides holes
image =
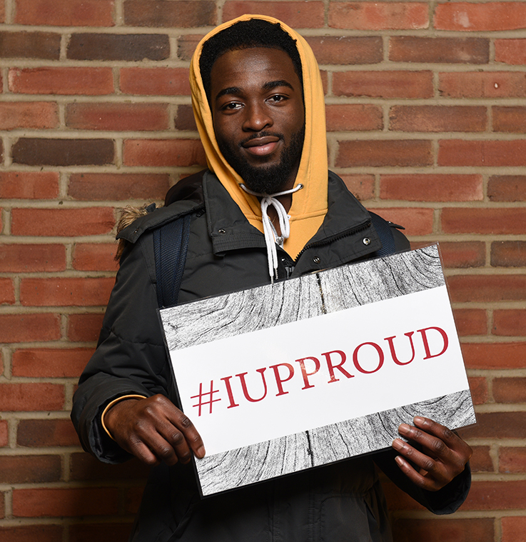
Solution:
[[[180,96],[190,94],[187,68],[121,68],[124,94]]]

